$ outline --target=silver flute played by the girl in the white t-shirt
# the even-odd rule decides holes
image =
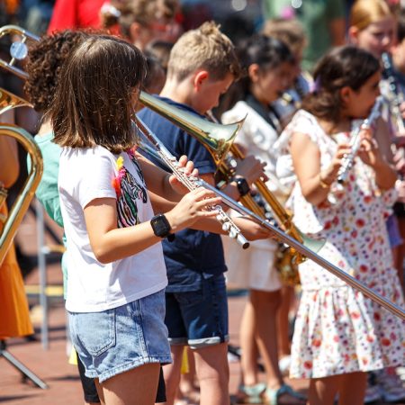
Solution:
[[[184,184],[184,186],[188,190],[193,191],[201,186],[199,183],[200,179],[198,177],[193,177],[184,174],[184,170],[182,167],[179,166],[177,159],[167,150],[167,148],[163,145],[163,143],[159,139],[157,139],[157,136],[151,130],[148,129],[147,125],[144,122],[142,122],[138,117],[136,118],[135,122],[141,133],[145,136],[146,139],[148,139],[148,142],[150,142],[153,146],[152,148],[142,139],[138,139],[138,144],[140,148],[142,148],[148,154],[157,157],[157,159],[161,163],[164,163],[172,171],[173,175],[175,175],[175,177],[182,184]],[[218,192],[214,191],[214,193],[216,195],[219,195]],[[210,211],[211,210],[218,211],[218,215],[216,218],[217,220],[220,221],[222,229],[228,233],[229,238],[236,239],[238,241],[238,244],[244,249],[249,247],[250,244],[247,241],[247,238],[245,238],[242,235],[240,229],[238,229],[235,222],[231,220],[231,218],[225,211],[223,211],[220,205],[210,206],[208,207],[208,209]]]

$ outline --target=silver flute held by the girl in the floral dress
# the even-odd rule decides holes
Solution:
[[[356,129],[353,131],[352,138],[350,141],[350,152],[343,157],[342,166],[340,166],[338,171],[338,184],[344,184],[346,182],[347,175],[353,166],[358,149],[360,148],[360,145],[362,143],[362,139],[360,138],[361,130],[368,130],[371,127],[374,120],[376,120],[380,115],[382,105],[383,105],[383,97],[380,95],[375,100],[370,115],[365,119],[365,121],[362,122],[361,125],[356,127]]]

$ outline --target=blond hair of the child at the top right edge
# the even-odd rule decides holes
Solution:
[[[390,16],[395,15],[384,0],[356,0],[350,10],[349,25],[362,31],[370,24]]]

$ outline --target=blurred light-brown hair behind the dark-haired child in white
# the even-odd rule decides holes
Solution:
[[[285,20],[284,18],[267,20],[262,33],[284,42],[294,55],[299,54],[307,44],[305,31],[298,20]]]

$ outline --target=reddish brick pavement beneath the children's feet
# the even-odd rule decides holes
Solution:
[[[48,231],[45,232],[46,244],[55,244],[55,237],[61,236],[61,229],[58,229],[58,226],[47,218],[45,222],[48,227]],[[33,211],[26,214],[15,240],[22,247],[25,255],[36,257],[38,244]],[[66,311],[61,296],[62,275],[58,264],[58,254],[48,257],[47,279],[49,284],[48,347],[45,348],[41,342],[40,327],[43,313],[38,306],[39,271],[37,266],[34,266],[25,278],[26,291],[32,306],[31,319],[36,331],[35,337],[34,339],[11,338],[5,342],[5,356],[14,356],[23,366],[31,370],[35,378],[40,379],[41,383],[45,383],[47,388],[39,388],[30,378],[23,377],[23,374],[4,356],[0,357],[0,403],[2,405],[76,405],[84,403],[76,365],[69,365],[67,361]],[[246,294],[243,293],[229,294],[231,345],[238,346],[239,322],[246,299]],[[233,398],[237,392],[240,365],[233,359],[233,361],[229,361],[229,367],[229,392]],[[303,380],[287,381],[287,383],[291,383],[294,389],[302,392],[306,392],[308,388],[308,382]]]

